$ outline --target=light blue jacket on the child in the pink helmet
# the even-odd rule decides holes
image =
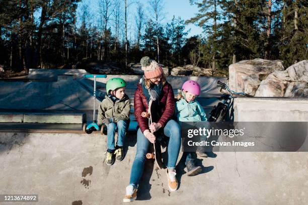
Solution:
[[[179,122],[207,121],[206,114],[198,101],[187,102],[181,98],[176,102],[176,114]]]

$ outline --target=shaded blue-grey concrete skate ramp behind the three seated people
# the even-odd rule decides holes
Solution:
[[[33,69],[34,70],[34,69]],[[44,71],[44,72],[43,72]],[[58,74],[58,72],[63,72]],[[83,78],[81,71],[78,74],[67,74],[65,70],[42,70],[39,72],[38,79],[0,80],[0,109],[24,109],[24,110],[92,110],[93,109],[93,79]],[[37,70],[32,73],[38,72]],[[43,75],[44,73],[44,75]],[[31,76],[31,75],[30,75]],[[32,74],[32,76],[35,76]],[[55,81],[47,79],[48,76]],[[106,82],[112,77],[122,77],[128,82],[126,92],[133,99],[136,85],[139,82],[140,75],[107,75],[107,78],[98,78],[97,82],[97,100],[96,108],[105,97]],[[46,79],[44,81],[44,79]],[[217,88],[218,80],[225,78],[211,77],[168,77],[172,84],[175,94],[182,84],[188,80],[197,80],[202,86],[202,93],[199,96],[200,103],[203,106],[213,106],[221,93]],[[203,98],[203,99],[202,99]],[[132,100],[133,103],[133,100]]]

